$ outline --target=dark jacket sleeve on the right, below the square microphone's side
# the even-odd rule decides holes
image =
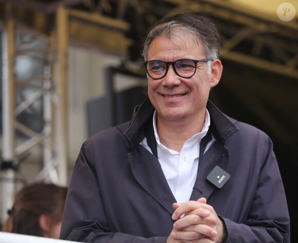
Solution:
[[[224,218],[227,242],[290,242],[290,220],[280,170],[269,137],[261,146],[255,195],[245,223]],[[265,138],[265,140],[266,140]]]

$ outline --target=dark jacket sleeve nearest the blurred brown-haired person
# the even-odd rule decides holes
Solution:
[[[90,154],[91,151],[87,150],[83,144],[68,188],[60,239],[90,243],[166,242],[167,237],[142,238],[120,232],[110,232],[97,173],[88,158]]]

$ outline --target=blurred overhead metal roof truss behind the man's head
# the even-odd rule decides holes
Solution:
[[[277,16],[239,9],[227,1],[0,0],[0,4],[8,2],[21,9],[45,13],[45,18],[55,13],[59,4],[67,6],[68,11],[73,13],[70,14],[70,42],[87,46],[91,44],[91,47],[99,47],[139,63],[140,48],[152,23],[179,12],[203,14],[212,18],[218,26],[222,39],[222,59],[298,78],[297,20],[281,21]],[[26,22],[26,19],[22,21]],[[47,22],[46,19],[43,21]],[[92,28],[95,22],[101,23]],[[46,31],[37,24],[33,24],[33,27]],[[82,33],[79,29],[84,29],[83,34],[78,34]],[[120,29],[125,37],[114,36]],[[99,32],[108,41],[96,38]]]

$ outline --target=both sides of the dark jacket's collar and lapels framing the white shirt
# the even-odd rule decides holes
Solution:
[[[209,198],[214,192],[215,186],[206,180],[208,173],[215,165],[226,169],[228,165],[228,151],[222,146],[226,139],[238,130],[236,120],[229,118],[220,112],[211,101],[208,101],[207,109],[211,117],[211,133],[216,137],[216,142],[203,156],[199,163],[198,176],[191,195],[191,200],[197,200],[200,197]],[[132,148],[146,136],[148,145],[152,148],[153,154],[157,157],[156,141],[153,133],[152,117],[154,108],[149,99],[137,106],[128,128],[124,135],[128,138]],[[151,142],[150,142],[151,141]],[[224,150],[222,150],[224,149]],[[134,149],[133,149],[134,150]],[[154,197],[170,214],[174,212],[172,207],[175,198],[169,185],[163,176],[160,164],[157,160],[150,159],[150,155],[144,156],[143,160],[136,157],[138,153],[128,152],[128,161],[131,163],[132,172],[138,183]],[[142,161],[142,163],[139,163]],[[145,163],[148,161],[150,163]],[[155,178],[148,180],[147,178]]]

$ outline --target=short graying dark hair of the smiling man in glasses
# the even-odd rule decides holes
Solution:
[[[178,30],[178,31],[177,31]],[[214,23],[209,19],[192,13],[180,13],[158,22],[149,32],[145,39],[142,56],[148,58],[148,48],[151,42],[159,37],[182,38],[183,34],[190,34],[194,41],[201,44],[207,58],[217,59],[220,48],[219,33]],[[210,69],[211,62],[208,62]]]

